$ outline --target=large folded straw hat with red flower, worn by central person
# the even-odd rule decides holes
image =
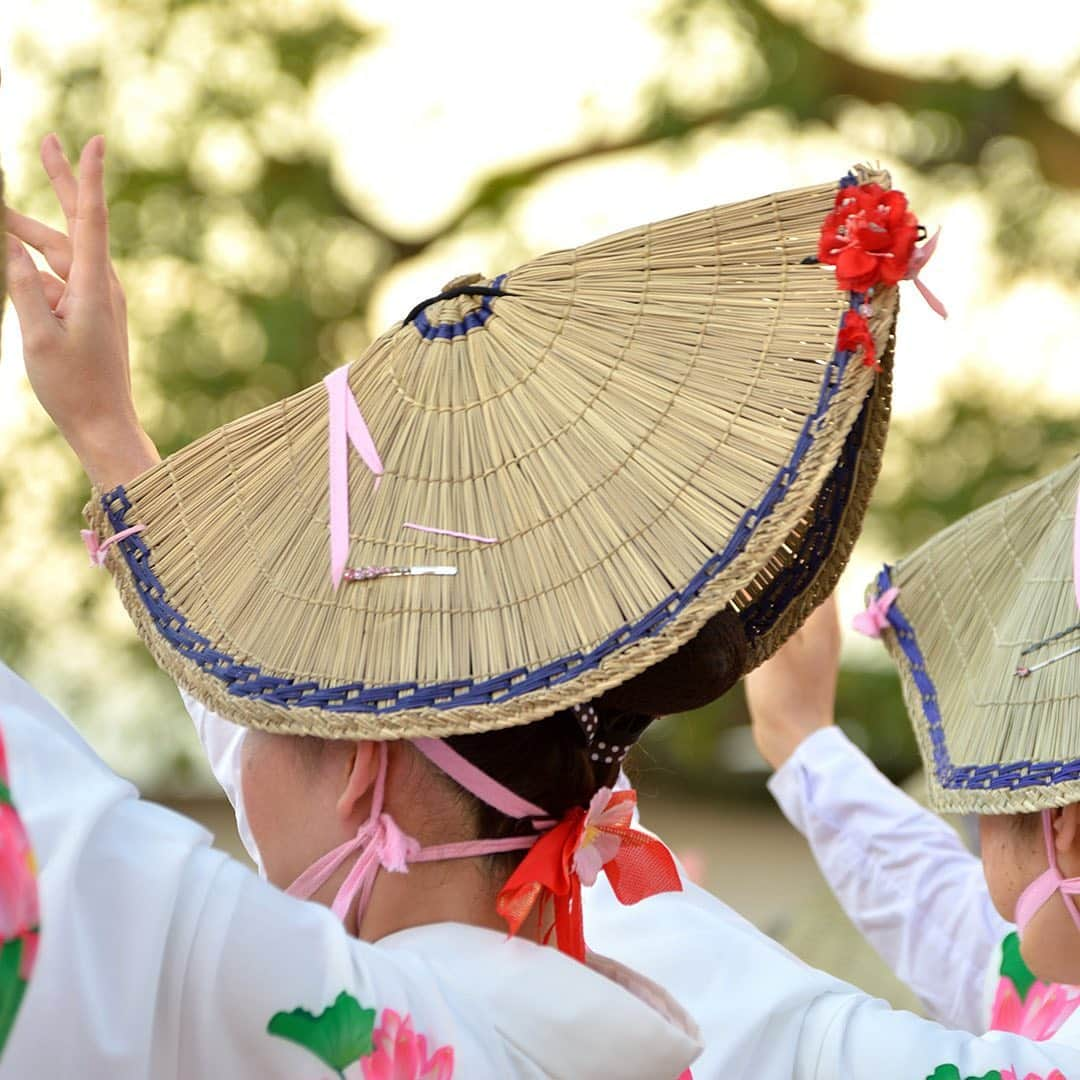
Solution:
[[[103,537],[141,527],[107,565],[158,662],[237,723],[396,739],[595,698],[723,608],[764,660],[835,584],[885,441],[896,287],[845,292],[808,265],[855,183],[632,229],[484,283],[502,295],[429,301],[345,386],[102,496]],[[837,347],[855,308],[879,372]],[[349,470],[336,570],[455,576],[335,583],[332,397]]]

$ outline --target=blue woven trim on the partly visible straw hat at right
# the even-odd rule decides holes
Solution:
[[[892,588],[892,568],[883,567],[877,577],[878,595]],[[900,608],[899,598],[888,613],[889,625],[896,634],[896,642],[907,661],[907,670],[922,701],[922,716],[927,721],[930,744],[933,747],[934,775],[942,787],[982,791],[1020,787],[1050,787],[1069,780],[1080,780],[1080,759],[1071,761],[1012,761],[1005,765],[954,765],[945,745],[937,689],[927,671],[927,662],[919,648],[915,627]]]

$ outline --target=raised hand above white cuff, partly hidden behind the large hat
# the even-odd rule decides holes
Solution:
[[[804,739],[834,723],[840,621],[831,596],[771,660],[746,676],[754,742],[779,769]]]

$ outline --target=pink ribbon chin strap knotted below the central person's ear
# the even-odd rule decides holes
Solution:
[[[433,765],[488,806],[510,818],[531,818],[538,834],[550,827],[551,819],[543,810],[519,798],[508,787],[503,787],[442,740],[418,739],[413,745]],[[347,859],[359,853],[356,862],[341,882],[330,905],[330,910],[339,919],[345,919],[355,901],[359,926],[370,902],[372,890],[380,868],[391,874],[407,874],[409,863],[434,863],[444,859],[470,859],[473,855],[524,851],[536,843],[536,836],[509,836],[500,840],[465,840],[421,848],[420,842],[404,833],[394,819],[382,809],[390,759],[386,743],[379,743],[378,753],[379,765],[372,793],[372,813],[367,821],[360,826],[351,840],[346,840],[312,863],[285,890],[291,896],[307,900],[326,883]]]

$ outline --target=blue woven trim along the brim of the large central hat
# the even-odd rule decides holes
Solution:
[[[496,279],[497,282],[499,280]],[[852,307],[858,307],[863,301],[861,293],[851,293],[849,296]],[[324,687],[313,680],[300,683],[280,675],[265,674],[257,665],[241,663],[214,648],[211,640],[191,626],[187,618],[170,603],[164,585],[153,571],[151,550],[143,535],[134,534],[121,540],[117,546],[158,632],[172,648],[203,673],[225,683],[231,694],[283,707],[314,707],[332,713],[366,714],[422,707],[461,708],[510,701],[577,678],[583,672],[598,667],[613,652],[654,636],[742,553],[758,525],[772,513],[798,475],[802,460],[813,446],[814,436],[825,422],[829,407],[839,392],[851,355],[848,351],[833,353],[825,365],[816,407],[806,418],[791,458],[778,470],[761,501],[743,514],[724,550],[711,556],[684,589],[669,594],[637,622],[620,626],[589,652],[573,652],[539,667],[521,667],[487,679],[457,679],[430,686],[419,686],[416,683],[367,686],[355,681]],[[127,512],[131,505],[122,486],[103,496],[102,507],[117,532],[129,527]]]

